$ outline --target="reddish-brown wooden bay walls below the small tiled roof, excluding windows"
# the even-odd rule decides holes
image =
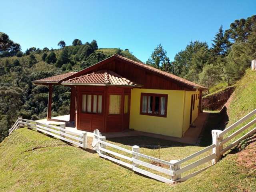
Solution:
[[[124,114],[124,95],[129,95],[130,88],[106,87],[106,86],[77,86],[78,90],[78,110],[77,124],[79,130],[93,131],[95,129],[101,132],[118,132],[129,128],[129,116]],[[82,94],[102,94],[102,114],[82,113]],[[109,112],[109,96],[110,94],[120,94],[121,113],[118,115],[110,115]],[[130,104],[130,102],[129,102]]]

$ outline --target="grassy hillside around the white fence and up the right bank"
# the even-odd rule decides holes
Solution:
[[[230,122],[256,107],[256,72],[248,70],[238,83],[230,102]],[[214,121],[214,119],[212,119]],[[211,123],[211,122],[208,122]],[[218,127],[214,127],[215,129]],[[209,138],[210,139],[210,138]],[[255,136],[242,141],[218,164],[186,182],[168,185],[135,174],[118,164],[98,157],[91,149],[82,150],[33,130],[21,128],[0,143],[0,191],[173,191],[173,192],[253,192],[256,191]],[[158,156],[148,148],[148,138],[113,138],[122,147],[140,144],[144,154]],[[165,160],[180,159],[204,146],[188,146],[159,139]],[[245,159],[245,160],[244,160]],[[188,162],[189,163],[189,162]]]

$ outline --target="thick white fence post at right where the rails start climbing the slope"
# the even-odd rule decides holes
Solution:
[[[223,140],[223,136],[219,136],[221,132],[221,130],[212,130],[212,144],[216,145],[216,147],[212,148],[212,153],[216,154],[216,158],[212,160],[212,164],[215,164],[221,158],[220,151],[223,148],[223,146],[220,145],[220,141]]]

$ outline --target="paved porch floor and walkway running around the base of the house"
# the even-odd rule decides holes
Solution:
[[[148,137],[154,137],[154,138],[160,138],[164,140],[170,140],[170,141],[176,141],[186,144],[196,144],[198,141],[198,137],[200,136],[200,133],[202,131],[202,128],[204,126],[204,122],[208,116],[208,113],[202,112],[198,115],[198,118],[194,121],[194,126],[189,128],[184,136],[182,138],[178,137],[172,137],[172,136],[165,136],[160,134],[153,134],[153,133],[147,133],[147,132],[141,132],[141,131],[132,131],[132,130],[125,130],[123,132],[111,132],[111,133],[102,133],[102,136],[106,136],[106,138],[115,138],[115,137],[127,137],[127,136],[148,136]],[[47,119],[41,119],[37,120],[37,122],[42,122],[46,124],[52,124],[52,125],[60,125],[60,124],[66,124],[66,129],[77,132],[77,133],[84,133],[87,131],[81,131],[77,130],[72,124],[72,122],[69,121],[69,115],[64,116],[58,116],[58,117],[52,117],[53,120],[49,121]],[[57,121],[54,121],[56,119]],[[62,121],[62,122],[61,122]],[[93,137],[92,132],[87,132],[87,136]]]

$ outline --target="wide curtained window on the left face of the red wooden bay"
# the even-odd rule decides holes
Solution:
[[[102,95],[82,95],[82,113],[102,113]]]

